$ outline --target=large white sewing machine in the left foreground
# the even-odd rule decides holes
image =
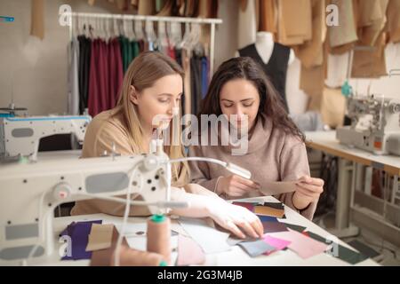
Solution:
[[[164,213],[171,183],[167,161],[165,154],[148,154],[0,166],[0,264],[52,255],[52,218],[61,203],[111,197],[124,208],[126,200],[117,196],[131,192],[150,202],[152,214]]]

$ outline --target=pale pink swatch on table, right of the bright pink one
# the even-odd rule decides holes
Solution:
[[[308,258],[324,253],[329,244],[315,241],[308,236],[296,231],[271,233],[275,238],[291,241],[288,248],[296,252],[301,258]]]

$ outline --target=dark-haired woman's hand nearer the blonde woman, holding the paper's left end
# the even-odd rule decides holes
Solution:
[[[260,185],[250,179],[232,175],[229,177],[220,177],[216,192],[218,194],[226,193],[232,197],[241,197],[251,191],[257,191]]]

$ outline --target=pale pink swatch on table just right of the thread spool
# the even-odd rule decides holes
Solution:
[[[178,236],[177,265],[183,266],[204,264],[204,261],[204,251],[202,248],[200,248],[196,241],[180,234]]]

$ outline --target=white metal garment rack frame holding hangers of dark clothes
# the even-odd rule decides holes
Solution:
[[[112,13],[88,13],[88,12],[72,12],[72,18],[84,19],[112,19],[112,20],[132,20],[132,21],[156,21],[156,22],[178,22],[178,23],[196,23],[202,25],[211,25],[210,34],[210,74],[214,71],[214,49],[215,49],[215,28],[216,25],[222,24],[220,19],[204,19],[204,18],[184,18],[184,17],[157,17],[143,15],[126,15]],[[74,20],[69,25],[69,36],[72,38]]]

